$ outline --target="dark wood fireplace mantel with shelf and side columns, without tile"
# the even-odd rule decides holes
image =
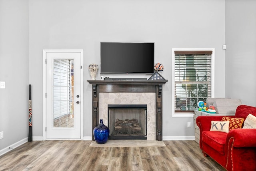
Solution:
[[[162,85],[168,80],[87,80],[92,84],[92,130],[99,124],[100,93],[156,93],[156,140],[162,141]],[[92,134],[92,140],[94,140]]]

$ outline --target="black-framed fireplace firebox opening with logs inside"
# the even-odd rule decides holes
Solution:
[[[147,105],[108,105],[109,139],[147,139]]]

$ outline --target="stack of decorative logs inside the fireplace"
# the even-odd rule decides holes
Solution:
[[[137,119],[116,119],[115,131],[116,134],[138,134],[141,132],[141,127]]]

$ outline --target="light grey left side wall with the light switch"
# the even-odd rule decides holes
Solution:
[[[28,0],[0,0],[0,154],[28,137],[28,67]]]

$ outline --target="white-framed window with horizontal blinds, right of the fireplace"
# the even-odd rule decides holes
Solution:
[[[172,50],[172,116],[193,116],[198,101],[213,95],[214,49]]]

